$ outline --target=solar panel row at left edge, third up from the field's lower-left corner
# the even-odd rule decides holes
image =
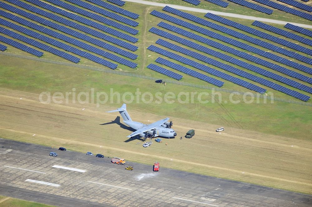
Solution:
[[[4,21],[3,19],[0,19],[0,24],[2,24],[3,21]],[[0,27],[0,32],[5,34],[5,35],[8,35],[10,37],[13,37],[13,38],[15,38],[17,40],[21,40],[23,42],[26,42],[29,45],[33,45],[33,46],[35,46],[37,48],[43,49],[43,50],[45,50],[47,52],[50,52],[50,53],[55,54],[55,55],[58,55],[58,56],[60,56],[62,58],[65,58],[67,60],[70,60],[71,62],[78,63],[80,61],[80,58],[77,58],[77,57],[75,57],[75,56],[73,56],[71,54],[68,54],[68,53],[60,51],[58,49],[52,48],[52,47],[50,47],[48,45],[42,44],[41,42],[38,42],[36,40],[30,39],[30,38],[25,37],[23,35],[17,34],[17,33],[13,32],[13,31],[10,31],[10,30],[5,29],[3,27]]]

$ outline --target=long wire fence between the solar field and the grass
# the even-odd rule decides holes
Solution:
[[[153,81],[160,79],[160,78],[155,78],[155,77],[141,75],[141,74],[129,73],[129,72],[125,72],[125,71],[112,70],[112,69],[106,69],[106,68],[99,68],[99,67],[89,66],[89,65],[64,63],[64,62],[55,61],[55,60],[30,57],[30,56],[22,56],[22,55],[18,55],[18,54],[11,54],[11,53],[4,53],[4,52],[1,52],[0,54],[5,54],[8,56],[14,56],[14,57],[19,57],[19,58],[24,58],[24,59],[32,59],[32,60],[41,61],[41,62],[59,64],[59,65],[67,65],[67,66],[76,67],[76,68],[97,70],[97,71],[102,71],[105,73],[113,73],[113,74],[118,74],[118,75],[123,75],[123,76],[143,78],[143,79],[148,79],[148,80],[153,80]],[[169,80],[169,79],[162,79],[162,80],[167,82],[167,83],[172,83],[172,84],[177,84],[177,85],[196,87],[196,88],[202,88],[202,89],[209,89],[209,90],[215,90],[215,91],[222,91],[222,92],[227,92],[227,93],[236,93],[236,94],[240,94],[240,95],[245,94],[245,92],[242,92],[242,91],[236,91],[236,90],[231,90],[231,89],[226,89],[226,88],[216,88],[216,87],[210,87],[210,86],[205,86],[205,85],[199,85],[199,84],[183,82],[183,81],[175,81],[175,80]],[[293,99],[283,99],[283,98],[271,97],[271,96],[266,96],[263,94],[256,94],[256,93],[248,93],[248,95],[253,95],[255,98],[262,98],[262,99],[267,99],[270,101],[279,101],[279,102],[285,102],[285,103],[291,103],[291,104],[299,104],[299,105],[303,105],[303,106],[312,106],[312,103],[307,103],[307,102],[303,102],[303,101],[295,101]]]

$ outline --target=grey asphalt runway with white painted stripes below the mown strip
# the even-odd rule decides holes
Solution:
[[[153,172],[153,163],[110,161],[0,139],[0,195],[65,207],[312,206],[312,195],[166,169],[161,163]],[[128,166],[134,170],[125,170]]]

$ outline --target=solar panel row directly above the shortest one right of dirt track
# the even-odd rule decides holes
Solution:
[[[193,76],[195,78],[201,79],[201,80],[206,81],[208,83],[212,83],[213,85],[218,86],[218,87],[221,87],[224,84],[224,82],[222,82],[222,81],[219,81],[217,79],[211,78],[211,77],[209,77],[207,75],[204,75],[202,73],[198,73],[195,70],[191,70],[189,68],[186,68],[186,67],[181,66],[179,64],[175,64],[175,63],[170,62],[169,60],[166,60],[166,59],[163,59],[163,58],[157,58],[155,60],[155,62],[163,64],[163,65],[166,65],[166,66],[168,66],[170,68],[176,69],[178,71],[181,71],[182,73],[186,73],[186,74],[188,74],[190,76]]]

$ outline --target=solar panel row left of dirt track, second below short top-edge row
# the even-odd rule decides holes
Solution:
[[[138,26],[139,25],[139,23],[136,22],[136,21],[133,21],[133,20],[128,19],[126,17],[120,16],[120,15],[115,14],[113,12],[109,12],[109,11],[107,11],[105,9],[100,8],[100,7],[93,6],[92,4],[89,4],[87,2],[83,2],[83,1],[80,1],[80,0],[65,0],[65,1],[71,2],[73,4],[76,4],[76,5],[80,6],[80,7],[84,7],[86,9],[90,10],[90,11],[97,12],[97,13],[102,14],[104,16],[110,17],[112,19],[115,19],[117,21],[120,21],[120,22],[125,23],[125,24],[130,25],[130,26]]]

